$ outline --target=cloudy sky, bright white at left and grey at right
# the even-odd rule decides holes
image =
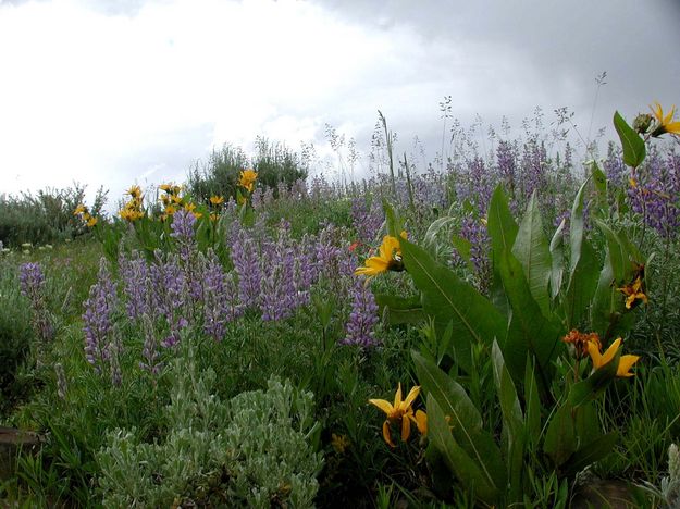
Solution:
[[[678,27],[676,0],[0,0],[0,194],[115,199],[258,135],[333,161],[327,124],[361,176],[378,110],[424,165],[448,96],[480,140],[562,107],[583,138],[611,137],[615,110],[680,104]]]

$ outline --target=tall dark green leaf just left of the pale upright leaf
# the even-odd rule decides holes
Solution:
[[[506,344],[505,360],[515,380],[524,374],[527,353],[536,358],[543,388],[547,388],[553,372],[552,360],[558,352],[561,327],[555,319],[546,319],[529,289],[520,262],[511,252],[516,231],[510,210],[500,188],[494,191],[489,206],[489,234],[492,238],[494,268],[500,275],[505,295],[512,309]],[[509,228],[509,233],[506,232]]]

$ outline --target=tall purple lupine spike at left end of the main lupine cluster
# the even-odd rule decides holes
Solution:
[[[97,373],[102,373],[109,362],[113,315],[118,305],[115,283],[102,257],[99,262],[97,283],[89,289],[84,302],[83,331],[85,332],[85,357]]]

